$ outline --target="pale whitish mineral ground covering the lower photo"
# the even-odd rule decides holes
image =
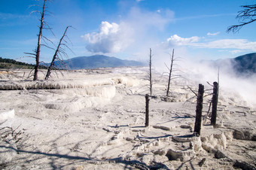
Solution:
[[[167,79],[154,74],[145,128],[147,69],[69,71],[47,82],[2,71],[0,87],[20,90],[0,90],[0,169],[254,169],[254,108],[221,89],[218,127],[205,123],[208,96],[201,136],[192,137],[196,99],[185,101],[198,83],[173,81],[164,102]]]

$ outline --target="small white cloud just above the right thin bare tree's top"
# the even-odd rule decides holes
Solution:
[[[178,35],[172,35],[170,38],[167,39],[167,42],[169,43],[169,45],[181,46],[181,45],[189,45],[199,40],[200,38],[197,36],[190,37],[190,38],[181,38]]]

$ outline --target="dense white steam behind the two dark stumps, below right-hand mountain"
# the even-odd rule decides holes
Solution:
[[[195,63],[191,61],[187,61],[189,65],[187,65],[187,69],[190,69],[189,77],[197,80],[201,83],[212,83],[214,81],[218,81],[218,66],[209,65],[207,63]],[[235,99],[245,100],[246,103],[240,103],[240,105],[249,105],[251,107],[256,106],[255,99],[255,90],[254,84],[256,83],[256,79],[254,76],[239,76],[233,71],[233,64],[230,61],[224,61],[219,65],[219,85],[220,85],[220,93],[221,90],[225,89],[226,92],[229,93],[238,93],[239,96]],[[189,70],[187,70],[189,71]]]

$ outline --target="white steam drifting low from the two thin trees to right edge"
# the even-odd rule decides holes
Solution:
[[[187,55],[181,49],[175,50],[176,58],[180,56],[178,55],[179,53],[183,54],[181,56]],[[161,73],[167,73],[169,70],[166,68],[166,65],[170,65],[170,54],[155,53],[156,56],[161,56],[161,59],[154,62],[155,69]],[[238,75],[233,70],[233,67],[233,62],[229,59],[217,62],[183,57],[175,62],[174,68],[178,69],[178,71],[174,71],[173,74],[181,75],[182,79],[191,80],[196,86],[198,83],[202,83],[209,89],[210,87],[207,82],[212,84],[214,81],[218,81],[219,69],[220,93],[226,93],[225,96],[235,95],[236,97],[232,98],[234,102],[239,103],[239,105],[248,105],[255,108],[256,91],[254,90],[254,84],[256,83],[256,75],[252,73]]]

